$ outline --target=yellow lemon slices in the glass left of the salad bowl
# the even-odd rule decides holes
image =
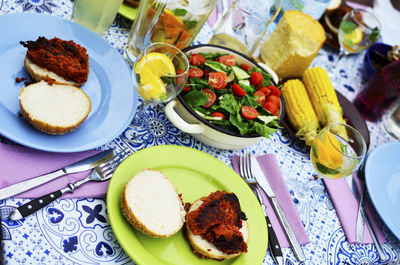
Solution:
[[[167,94],[161,77],[176,74],[174,64],[168,56],[156,52],[142,57],[135,64],[135,72],[140,75],[139,94],[144,100],[155,101]]]

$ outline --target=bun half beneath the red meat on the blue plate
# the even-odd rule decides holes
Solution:
[[[36,82],[39,82],[41,80],[54,83],[54,84],[60,84],[60,85],[71,85],[71,86],[82,86],[85,82],[78,83],[75,81],[70,81],[65,79],[64,77],[47,70],[44,67],[41,67],[35,63],[33,63],[28,56],[25,56],[25,68]]]

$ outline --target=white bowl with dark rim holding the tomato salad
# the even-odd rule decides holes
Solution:
[[[249,57],[229,48],[205,44],[190,46],[184,49],[183,52],[185,52],[188,56],[197,53],[220,53],[224,55],[233,55],[238,65],[246,64],[251,68],[258,67],[264,70],[264,72],[267,74],[271,75],[271,82],[273,85],[276,86],[279,81],[277,75],[267,65],[261,63],[257,64]],[[280,97],[279,111],[278,121],[280,122],[284,116],[282,97]],[[165,113],[171,123],[181,131],[192,135],[195,139],[209,146],[220,149],[242,149],[258,142],[263,137],[255,132],[241,135],[239,132],[228,130],[213,124],[201,113],[189,106],[189,104],[184,100],[182,93],[166,105]]]

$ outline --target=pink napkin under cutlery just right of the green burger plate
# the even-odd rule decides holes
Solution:
[[[300,220],[300,216],[294,206],[293,200],[290,196],[289,190],[283,179],[278,163],[275,160],[275,156],[272,154],[262,155],[257,157],[258,163],[264,172],[272,190],[275,192],[276,198],[282,211],[285,213],[290,226],[292,227],[299,243],[301,245],[310,243],[310,239],[307,236],[306,230],[304,229],[303,223]],[[233,169],[239,174],[239,157],[231,157]],[[261,189],[260,189],[261,191]],[[261,192],[264,197],[264,204],[267,206],[267,213],[271,221],[272,227],[278,237],[279,244],[282,248],[290,247],[289,241],[286,238],[286,234],[282,229],[281,224],[275,214],[274,209],[271,206],[270,201],[265,196],[264,192]]]

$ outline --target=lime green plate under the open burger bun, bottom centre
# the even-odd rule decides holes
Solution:
[[[200,259],[193,254],[182,231],[169,238],[156,239],[135,230],[123,217],[120,198],[125,184],[138,171],[162,171],[182,193],[184,202],[216,190],[234,192],[248,217],[248,252],[222,262]],[[157,196],[154,194],[154,196]],[[262,264],[267,251],[265,217],[251,189],[229,166],[204,152],[182,146],[161,145],[146,148],[123,161],[114,172],[107,192],[107,211],[112,230],[125,252],[138,264]]]

